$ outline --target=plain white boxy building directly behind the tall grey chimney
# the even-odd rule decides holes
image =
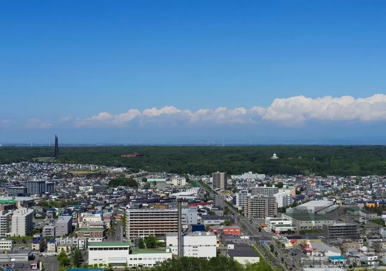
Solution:
[[[178,233],[166,234],[166,247],[178,254]],[[210,259],[217,256],[216,235],[212,232],[193,232],[182,236],[182,256]]]

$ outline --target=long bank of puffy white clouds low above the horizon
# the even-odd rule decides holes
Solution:
[[[307,120],[327,121],[379,121],[386,120],[386,95],[375,94],[368,98],[355,99],[351,96],[334,98],[306,98],[295,96],[278,98],[267,108],[254,106],[251,109],[200,109],[196,112],[182,110],[174,106],[161,109],[151,108],[139,111],[130,109],[121,114],[112,115],[101,112],[88,118],[76,118],[76,127],[125,127],[130,123],[202,123],[232,124],[259,123],[261,121],[278,122],[281,125],[296,125]]]

